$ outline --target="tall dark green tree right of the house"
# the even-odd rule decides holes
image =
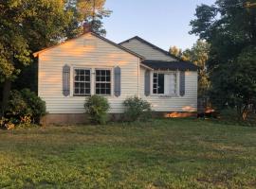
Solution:
[[[252,103],[251,95],[256,96],[256,63],[252,56],[256,45],[256,9],[245,6],[253,2],[218,0],[212,6],[201,5],[191,22],[191,33],[210,43],[207,67],[212,102],[219,108],[235,107],[243,119],[247,117],[244,110]]]

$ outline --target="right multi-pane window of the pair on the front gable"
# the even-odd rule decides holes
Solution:
[[[95,70],[95,94],[110,95],[111,94],[111,70],[96,69]]]

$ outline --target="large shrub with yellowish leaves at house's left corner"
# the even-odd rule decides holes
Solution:
[[[6,117],[13,124],[39,123],[46,114],[46,102],[28,89],[13,90],[9,95]]]

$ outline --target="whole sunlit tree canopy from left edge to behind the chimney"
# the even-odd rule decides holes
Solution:
[[[82,33],[84,21],[94,22],[93,30],[105,34],[101,19],[111,12],[104,9],[104,3],[105,0],[0,1],[2,109],[7,104],[10,83],[21,76],[21,71],[26,73],[25,67],[34,61],[32,52],[76,37]],[[30,78],[35,76],[31,72],[36,72],[35,66],[27,72]],[[32,82],[34,77],[29,80]]]

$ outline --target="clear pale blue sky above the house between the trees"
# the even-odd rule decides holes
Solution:
[[[197,5],[211,5],[215,0],[106,0],[113,10],[104,19],[106,37],[120,43],[139,36],[165,50],[172,45],[190,48],[197,37],[190,35],[190,21]]]

